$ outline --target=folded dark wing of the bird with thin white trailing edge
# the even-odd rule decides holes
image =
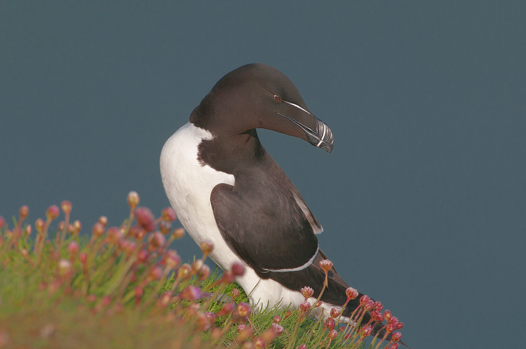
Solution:
[[[221,183],[212,190],[210,202],[223,238],[261,278],[272,271],[305,269],[318,252],[311,223],[291,190],[272,180],[261,182],[245,186],[237,177],[237,188]]]

